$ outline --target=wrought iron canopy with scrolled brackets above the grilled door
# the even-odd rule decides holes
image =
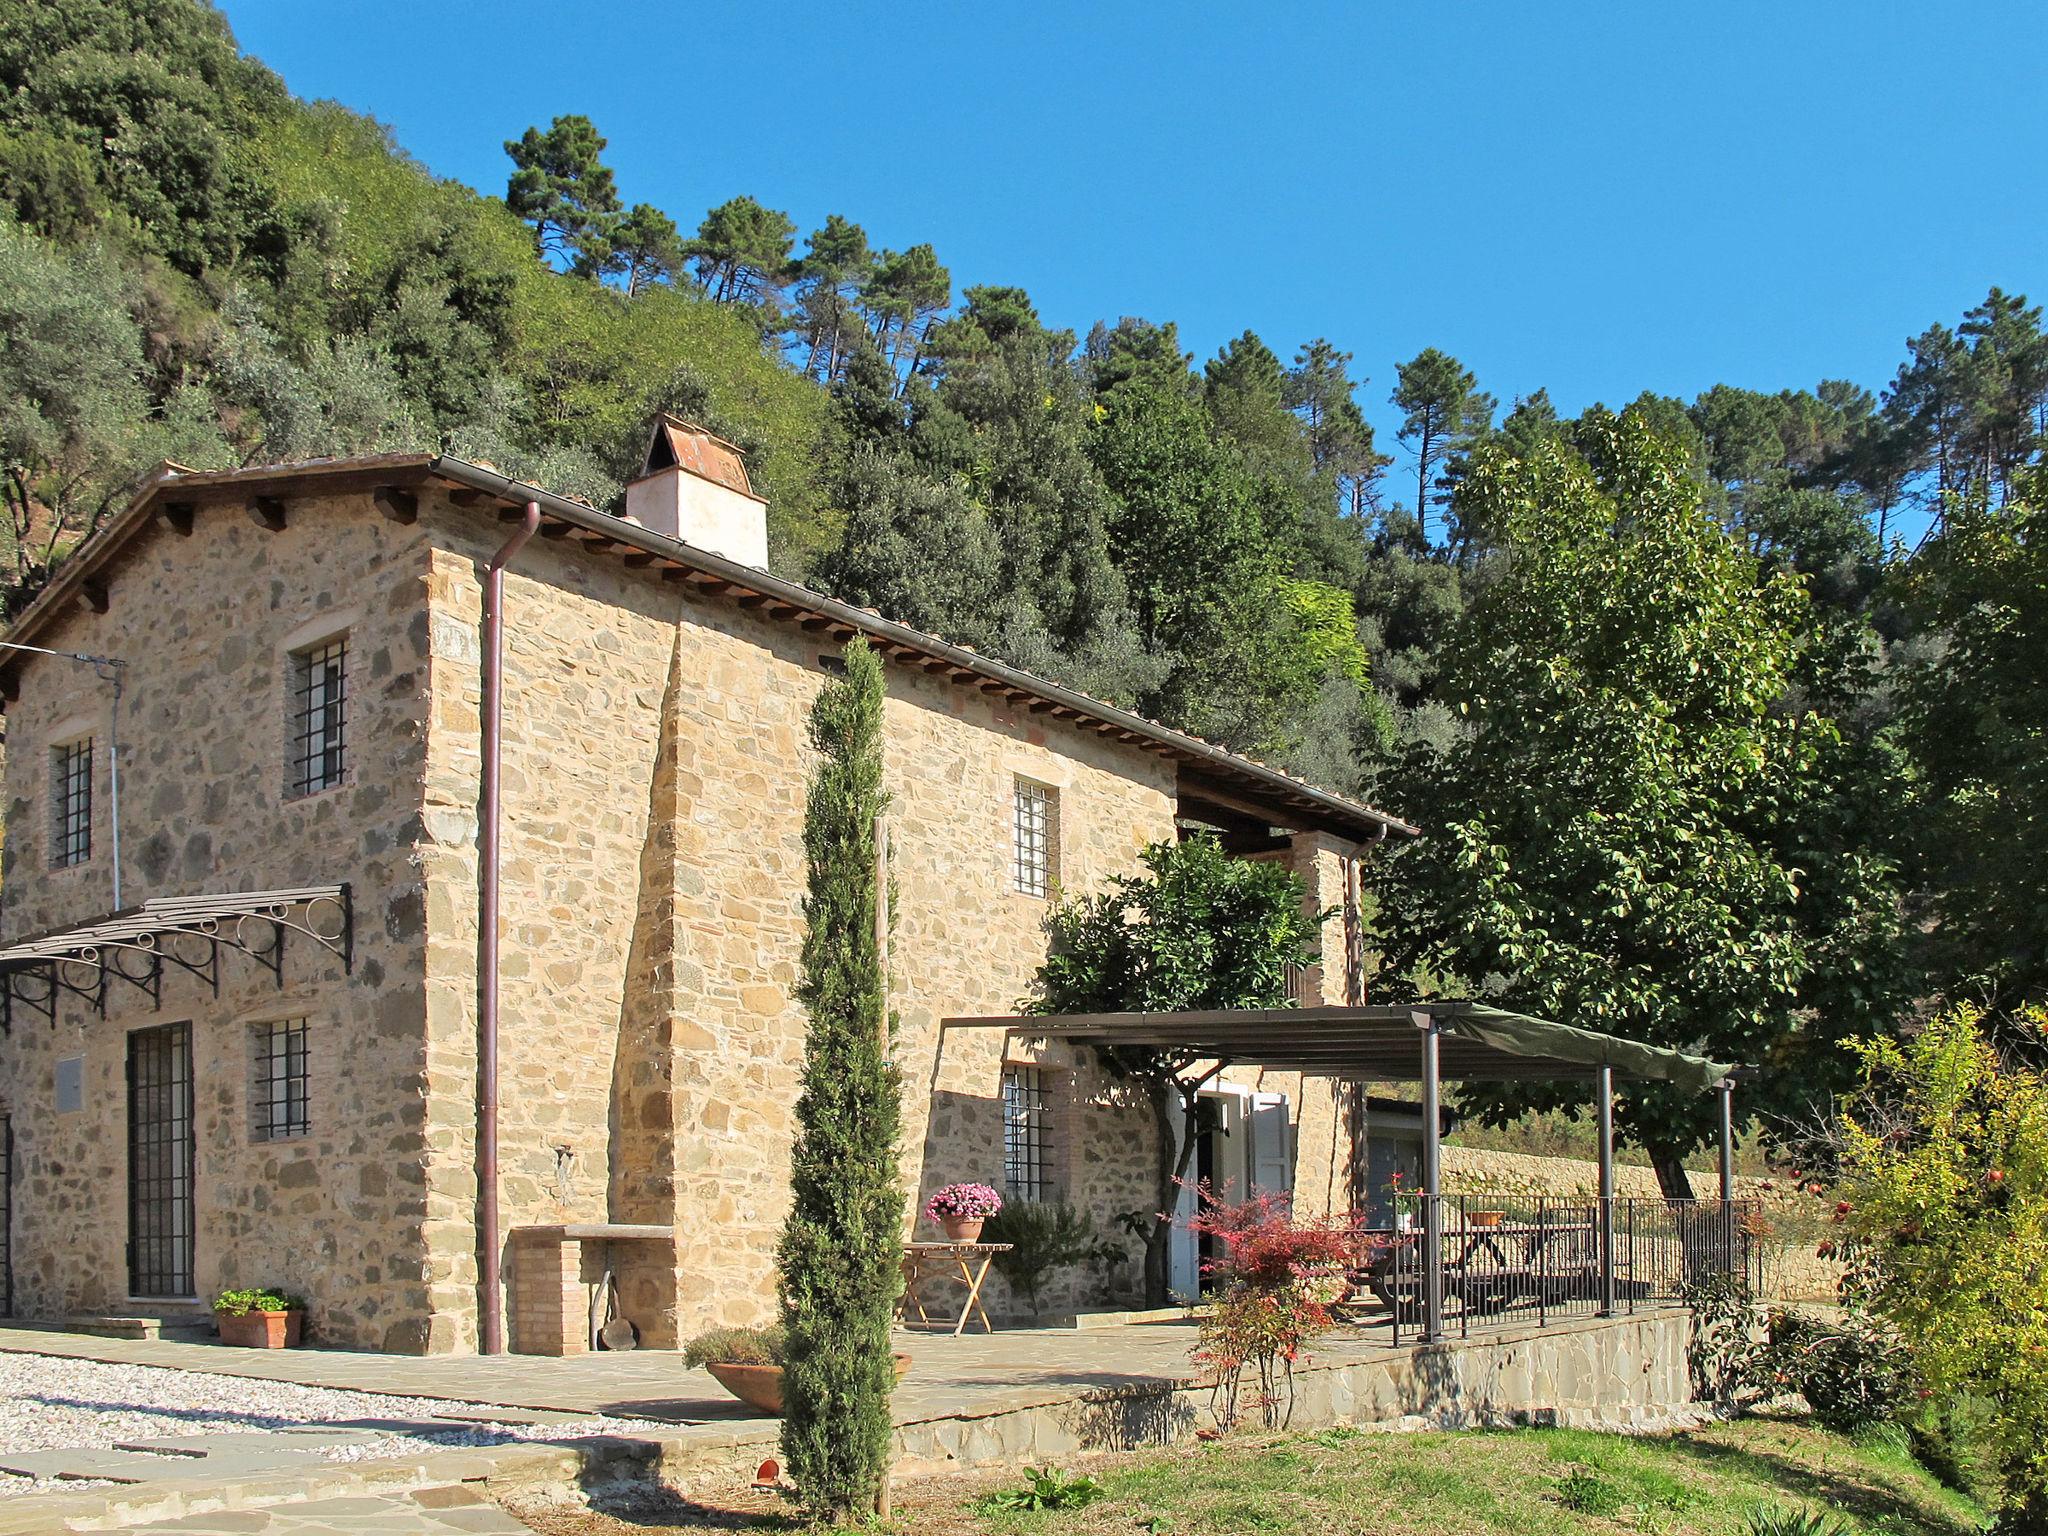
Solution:
[[[53,928],[0,948],[0,1026],[14,1026],[14,1006],[57,1022],[63,993],[106,1016],[106,983],[125,981],[164,1001],[164,963],[221,991],[221,950],[264,967],[285,985],[285,940],[299,934],[344,969],[354,969],[356,924],[348,885],[291,891],[156,897],[98,922]]]

